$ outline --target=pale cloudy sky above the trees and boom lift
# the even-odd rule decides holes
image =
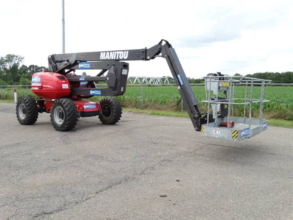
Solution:
[[[62,53],[62,0],[0,0],[0,19],[0,56],[47,67],[49,55]],[[161,39],[191,78],[293,71],[293,1],[65,0],[66,53],[150,48]],[[129,63],[129,76],[172,76],[163,58]]]

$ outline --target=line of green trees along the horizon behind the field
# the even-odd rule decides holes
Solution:
[[[30,85],[35,72],[48,70],[47,67],[38,65],[21,65],[24,57],[14,54],[7,54],[0,57],[0,85]],[[82,75],[86,76],[86,72]],[[240,74],[236,73],[236,76]],[[293,72],[258,72],[245,75],[259,79],[272,80],[272,83],[293,83]],[[172,77],[168,77],[171,84],[175,83]],[[204,79],[194,79],[188,77],[189,83],[204,83]]]

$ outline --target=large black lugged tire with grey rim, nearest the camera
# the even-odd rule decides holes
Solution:
[[[52,125],[57,131],[71,131],[78,121],[78,112],[74,101],[58,99],[52,105],[50,117]]]

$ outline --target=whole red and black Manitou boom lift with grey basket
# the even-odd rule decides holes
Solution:
[[[205,77],[207,89],[206,94],[209,94],[209,96],[207,96],[208,100],[204,102],[208,103],[208,110],[209,106],[212,106],[213,114],[202,114],[178,56],[167,40],[162,39],[158,44],[151,48],[137,50],[53,54],[48,57],[49,71],[35,73],[32,78],[32,91],[42,99],[21,99],[18,102],[16,109],[18,121],[21,124],[33,124],[37,121],[38,113],[47,112],[51,113],[52,125],[58,131],[68,131],[74,128],[78,117],[98,115],[102,123],[114,124],[120,120],[122,114],[121,105],[116,99],[105,98],[100,104],[82,101],[82,99],[97,95],[123,95],[126,89],[129,70],[129,64],[125,61],[148,61],[153,60],[156,57],[163,57],[166,59],[193,126],[196,131],[201,131],[204,136],[227,140],[232,139],[229,135],[226,137],[226,134],[224,137],[219,135],[221,131],[215,132],[215,135],[209,131],[211,127],[219,128],[224,126],[225,128],[219,129],[231,130],[232,135],[234,122],[230,122],[230,106],[235,103],[234,100],[231,99],[229,86],[231,88],[237,81],[241,84],[246,84],[247,90],[247,85],[253,87],[253,84],[258,80],[258,82],[262,83],[263,89],[264,85],[269,83],[260,79],[255,79],[255,82],[253,82],[253,78],[248,79],[247,77],[232,79],[221,73],[209,74]],[[101,71],[94,77],[88,77],[75,75],[76,69],[94,69]],[[102,76],[106,72],[107,75]],[[97,88],[96,86],[98,84],[95,84],[97,81],[105,81],[107,83],[107,88]],[[214,94],[217,94],[217,97],[210,97],[211,91]],[[218,92],[224,92],[226,97],[219,97]],[[245,99],[248,98],[245,97]],[[268,100],[264,100],[262,97],[262,99],[259,100],[260,105],[262,106],[262,103],[265,101]],[[251,98],[250,102],[246,105],[251,105],[252,103],[253,100]],[[33,107],[30,107],[31,105]],[[229,111],[227,111],[227,106],[229,106]],[[218,114],[219,112],[220,114]],[[227,121],[228,114],[229,120]],[[243,120],[244,121],[242,122],[246,123],[245,119]],[[243,138],[253,136],[256,133],[265,130],[266,127],[263,128],[262,119],[260,119],[259,123],[259,126],[262,128],[253,133],[250,119],[250,135],[238,138],[237,140],[242,140]],[[232,124],[233,126],[231,127]],[[207,127],[207,129],[204,129],[204,127]],[[207,131],[208,133],[205,133],[204,131]]]

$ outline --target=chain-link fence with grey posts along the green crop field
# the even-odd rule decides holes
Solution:
[[[201,102],[206,99],[205,85],[190,84],[190,86],[198,101],[201,112],[207,112],[207,104]],[[97,87],[105,87],[105,85],[97,84]],[[22,97],[38,99],[32,93],[31,85],[0,85],[0,98],[2,100],[13,100],[14,89],[17,92],[17,99]],[[259,97],[260,87],[255,86],[253,94],[255,97]],[[236,85],[235,98],[243,98],[244,96],[245,87]],[[103,97],[94,96],[89,100],[99,102],[101,98]],[[127,84],[125,94],[115,98],[125,108],[186,112],[176,84]],[[263,109],[268,117],[293,120],[293,84],[270,84],[266,86],[265,99],[270,100],[269,103],[264,104]],[[255,109],[259,109],[258,106],[255,106]],[[259,113],[259,110],[255,111]],[[243,109],[234,109],[235,115],[238,112],[243,112]]]

